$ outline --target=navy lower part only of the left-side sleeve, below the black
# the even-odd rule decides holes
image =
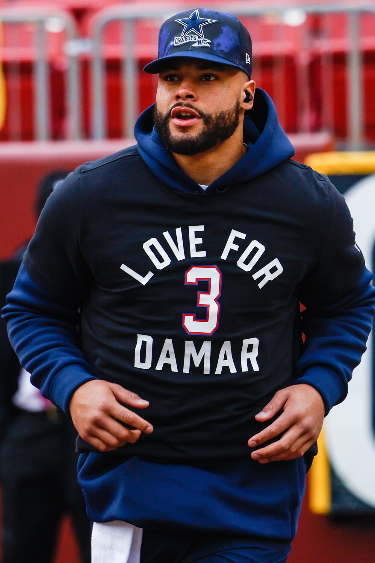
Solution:
[[[21,365],[31,373],[31,383],[69,415],[76,388],[96,379],[80,350],[74,304],[40,287],[22,263],[2,316]]]

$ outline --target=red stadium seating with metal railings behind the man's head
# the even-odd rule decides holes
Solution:
[[[107,5],[107,6],[106,6]],[[375,142],[374,3],[206,2],[251,30],[254,77],[290,133],[330,131],[351,149]],[[186,2],[0,2],[6,113],[1,140],[133,135],[155,97],[142,69],[157,33]]]

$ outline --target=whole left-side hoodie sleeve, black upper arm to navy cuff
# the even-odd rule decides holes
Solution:
[[[49,196],[2,310],[31,383],[66,414],[76,388],[94,379],[76,329],[91,283],[81,251],[79,189],[78,168]]]

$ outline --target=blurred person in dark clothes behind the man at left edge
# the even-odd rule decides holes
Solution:
[[[48,174],[36,212],[67,172]],[[11,291],[27,243],[0,263],[0,309]],[[76,477],[76,430],[69,419],[31,385],[0,319],[0,481],[3,563],[51,563],[61,518],[69,513],[83,563],[89,563],[90,524]]]

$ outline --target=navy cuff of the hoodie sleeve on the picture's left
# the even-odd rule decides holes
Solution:
[[[69,405],[74,391],[92,379],[97,379],[97,377],[88,373],[82,366],[68,365],[53,377],[49,386],[49,397],[56,406],[64,410],[64,413],[70,417]]]

